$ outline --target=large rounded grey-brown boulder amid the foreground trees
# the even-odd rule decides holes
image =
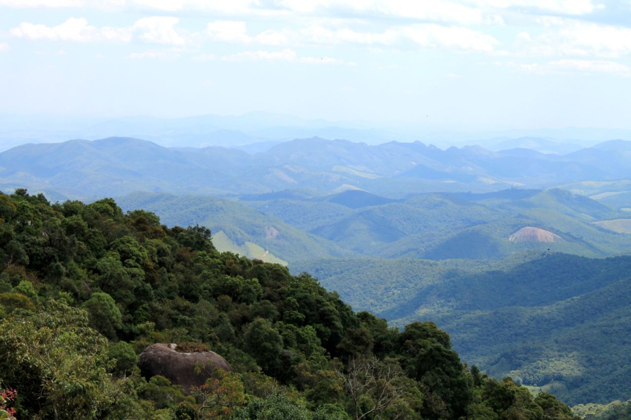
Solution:
[[[152,344],[140,355],[140,371],[147,379],[162,375],[172,383],[186,390],[199,387],[213,374],[213,370],[221,368],[230,371],[228,362],[213,351],[196,351],[184,353],[175,350],[175,344]],[[201,364],[203,369],[195,373],[195,366]]]

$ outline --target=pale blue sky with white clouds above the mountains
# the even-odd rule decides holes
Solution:
[[[0,0],[0,114],[631,128],[631,0]]]

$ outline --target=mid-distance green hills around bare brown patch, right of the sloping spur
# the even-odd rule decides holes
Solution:
[[[623,213],[567,190],[422,194],[355,209],[330,198],[244,204],[366,257],[501,259],[527,250],[604,257],[631,250],[631,236],[595,224],[622,218]],[[363,198],[380,202],[370,195]],[[549,231],[558,240],[510,242],[510,236],[526,226]]]

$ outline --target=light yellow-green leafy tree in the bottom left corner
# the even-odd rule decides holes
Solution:
[[[121,395],[108,371],[107,340],[85,311],[49,301],[33,315],[0,321],[0,372],[27,417],[102,417]]]

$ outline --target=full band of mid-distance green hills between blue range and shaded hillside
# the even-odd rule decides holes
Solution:
[[[508,189],[487,194],[432,193],[391,200],[365,191],[333,195],[285,191],[220,199],[137,192],[117,199],[167,226],[203,225],[222,251],[290,264],[330,257],[501,259],[526,250],[604,257],[631,250],[630,236],[603,222],[615,211],[567,190]],[[622,222],[617,219],[623,219]],[[600,223],[603,226],[594,224]],[[554,242],[510,236],[526,226]]]

